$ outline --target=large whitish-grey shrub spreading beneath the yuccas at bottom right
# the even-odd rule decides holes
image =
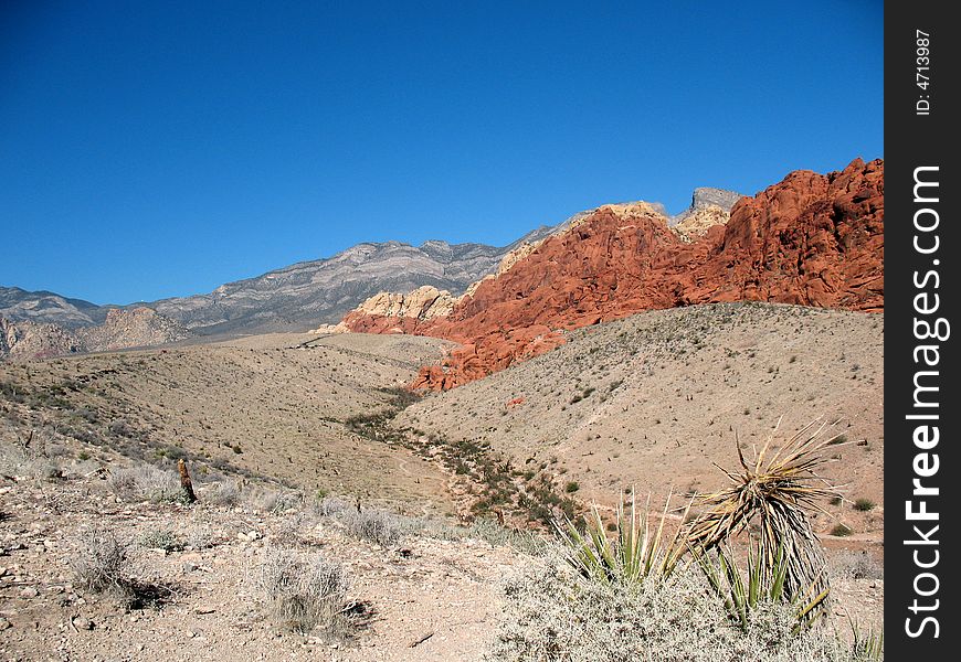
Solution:
[[[830,628],[792,634],[789,606],[764,601],[747,627],[733,626],[721,598],[694,567],[664,581],[584,581],[560,558],[505,585],[490,662],[855,662],[865,655]]]

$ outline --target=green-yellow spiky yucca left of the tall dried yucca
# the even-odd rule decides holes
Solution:
[[[664,533],[669,503],[670,495],[654,531],[650,525],[651,496],[645,506],[638,509],[633,489],[630,512],[624,509],[623,495],[617,505],[616,530],[612,537],[608,536],[596,506],[591,510],[583,533],[570,520],[556,523],[566,542],[564,558],[583,577],[604,584],[632,585],[652,577],[667,577],[685,553],[682,527],[669,538]],[[684,511],[685,516],[689,508],[690,504]]]

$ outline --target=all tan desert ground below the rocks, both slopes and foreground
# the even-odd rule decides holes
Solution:
[[[675,488],[677,509],[720,484],[710,462],[735,466],[735,433],[747,447],[780,414],[785,431],[824,414],[845,436],[826,447],[845,499],[813,520],[832,624],[779,640],[770,659],[802,647],[820,651],[804,659],[853,662],[847,618],[876,628],[884,592],[883,333],[881,314],[795,306],[648,311],[423,397],[402,386],[447,341],[268,334],[0,364],[0,652],[536,659],[551,645],[545,609],[610,609],[599,618],[630,631],[663,613],[656,645],[694,655],[712,636],[710,660],[760,655],[769,634],[731,640],[696,574],[665,584],[654,607],[643,591],[633,607],[619,606],[633,592],[557,600],[582,585],[549,523],[596,501],[612,525],[632,484],[655,503]],[[701,616],[670,592],[685,586]],[[709,631],[677,643],[675,618]],[[571,641],[599,633],[557,619]]]

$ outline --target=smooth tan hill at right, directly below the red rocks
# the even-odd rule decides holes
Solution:
[[[489,445],[520,471],[551,473],[589,502],[622,489],[711,492],[733,469],[736,438],[758,446],[778,419],[792,431],[822,417],[843,435],[827,505],[855,537],[880,543],[884,316],[770,303],[648,311],[581,329],[557,349],[424,397],[394,425]],[[843,442],[843,444],[842,444]]]

